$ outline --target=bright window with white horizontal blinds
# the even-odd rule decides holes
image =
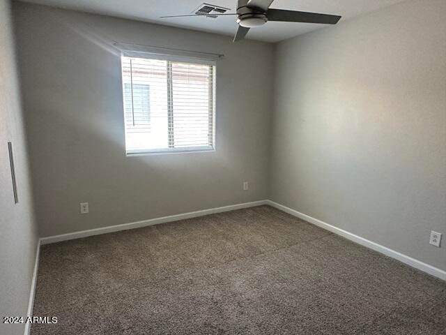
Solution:
[[[127,154],[214,148],[215,64],[122,57]]]

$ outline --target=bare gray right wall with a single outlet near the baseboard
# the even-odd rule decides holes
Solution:
[[[277,45],[271,198],[446,270],[446,1]],[[446,236],[444,236],[446,237]]]

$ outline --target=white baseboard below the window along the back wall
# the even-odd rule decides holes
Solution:
[[[254,202],[245,202],[243,204],[231,204],[224,207],[216,207],[211,209],[203,209],[201,211],[190,211],[189,213],[162,216],[161,218],[151,218],[144,221],[137,221],[132,223],[123,223],[121,225],[110,225],[108,227],[95,228],[89,230],[82,230],[80,232],[69,232],[68,234],[54,235],[49,237],[42,237],[40,244],[50,244],[60,241],[67,241],[68,239],[80,239],[82,237],[89,237],[93,235],[107,234],[108,232],[118,232],[121,230],[129,230],[134,228],[147,227],[148,225],[157,225],[159,223],[173,222],[178,220],[184,220],[185,218],[196,218],[198,216],[204,216],[208,214],[222,213],[224,211],[233,211],[235,209],[242,209],[254,206],[260,206],[261,204],[267,204],[268,200],[259,200]]]

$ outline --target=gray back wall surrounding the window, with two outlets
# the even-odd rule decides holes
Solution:
[[[272,45],[27,3],[15,17],[41,236],[267,198]],[[225,54],[217,151],[125,157],[113,40]]]

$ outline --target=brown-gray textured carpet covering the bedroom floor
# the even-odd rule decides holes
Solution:
[[[42,246],[32,335],[446,334],[446,283],[269,206]]]

